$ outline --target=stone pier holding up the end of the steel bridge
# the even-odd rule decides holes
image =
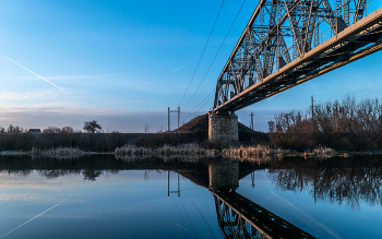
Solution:
[[[210,112],[208,140],[220,142],[238,142],[238,116],[235,112]]]

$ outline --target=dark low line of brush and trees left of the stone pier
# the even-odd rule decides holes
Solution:
[[[12,129],[12,130],[9,130]],[[15,130],[16,129],[16,130]],[[9,127],[0,133],[0,151],[51,150],[57,147],[79,147],[91,152],[114,152],[126,144],[144,147],[178,145],[206,142],[207,132],[184,133],[105,133],[97,121],[84,123],[83,130],[71,127],[48,127],[41,133],[28,133],[21,127]],[[202,144],[203,146],[203,144]]]

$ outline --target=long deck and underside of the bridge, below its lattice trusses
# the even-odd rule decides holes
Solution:
[[[214,108],[236,111],[382,49],[382,9]]]

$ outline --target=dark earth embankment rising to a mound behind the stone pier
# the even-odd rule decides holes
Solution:
[[[238,144],[266,144],[267,134],[253,131],[242,123],[238,124]],[[45,132],[45,131],[44,131]],[[59,131],[59,133],[0,133],[0,151],[31,152],[33,148],[46,151],[49,148],[80,148],[84,152],[114,152],[123,145],[157,148],[165,145],[183,145],[196,143],[200,147],[218,150],[227,144],[208,141],[208,116],[202,115],[191,119],[178,130],[157,133],[83,133]],[[5,153],[4,153],[5,154]]]

